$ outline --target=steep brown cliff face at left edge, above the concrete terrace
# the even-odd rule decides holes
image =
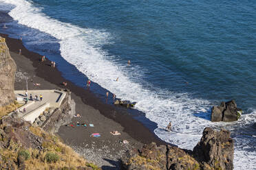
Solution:
[[[5,39],[0,37],[0,106],[6,106],[15,99],[14,76],[16,68]]]

